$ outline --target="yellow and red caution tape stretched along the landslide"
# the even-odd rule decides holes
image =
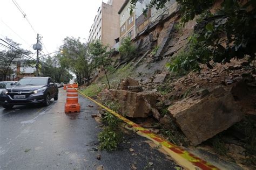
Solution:
[[[208,169],[209,170],[219,169],[219,168],[215,167],[214,165],[211,165],[210,163],[206,162],[205,160],[196,157],[196,155],[194,155],[194,154],[192,154],[190,152],[187,152],[183,148],[170,143],[169,141],[167,141],[167,140],[157,136],[156,134],[152,133],[151,131],[149,131],[149,130],[147,130],[145,128],[142,128],[138,124],[133,123],[129,119],[127,119],[127,118],[117,114],[113,110],[111,110],[111,109],[105,107],[104,105],[98,103],[97,101],[93,100],[91,97],[83,94],[77,88],[74,88],[74,89],[76,89],[84,97],[88,98],[92,102],[94,102],[97,105],[99,105],[99,107],[109,111],[114,116],[118,117],[119,119],[121,119],[125,123],[131,125],[134,129],[136,129],[138,131],[137,133],[140,136],[146,137],[146,138],[152,140],[155,144],[162,146],[164,148],[164,150],[167,153],[169,153],[171,155],[171,157],[174,160],[176,160],[178,162],[178,164],[180,164],[184,168],[188,168],[188,169],[198,169],[198,168],[200,168],[200,169],[207,169],[207,170]]]

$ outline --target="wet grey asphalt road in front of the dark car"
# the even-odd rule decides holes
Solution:
[[[167,156],[152,148],[146,139],[127,135],[117,151],[98,151],[101,131],[92,114],[96,105],[79,96],[81,112],[64,113],[65,91],[49,107],[0,107],[0,169],[175,169]],[[93,108],[87,105],[94,105]],[[130,148],[134,152],[130,151]],[[100,154],[101,159],[97,160]]]

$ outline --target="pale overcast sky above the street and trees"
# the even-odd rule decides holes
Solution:
[[[35,31],[42,35],[46,47],[43,52],[48,54],[57,51],[67,36],[86,41],[103,0],[0,0],[0,38],[11,38],[34,53],[36,33],[12,1],[18,3]]]

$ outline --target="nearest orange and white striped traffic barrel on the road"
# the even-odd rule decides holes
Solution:
[[[65,113],[80,112],[80,104],[78,103],[78,92],[74,88],[78,88],[78,85],[68,84],[67,86]]]

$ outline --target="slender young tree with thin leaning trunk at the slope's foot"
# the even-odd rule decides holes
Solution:
[[[104,46],[102,42],[96,40],[89,45],[89,52],[93,56],[93,60],[95,60],[95,66],[98,68],[102,68],[104,70],[107,84],[110,88],[109,79],[107,77],[107,70],[113,71],[113,67],[111,66],[112,60],[109,58],[110,54],[113,50],[107,51],[108,46]]]

